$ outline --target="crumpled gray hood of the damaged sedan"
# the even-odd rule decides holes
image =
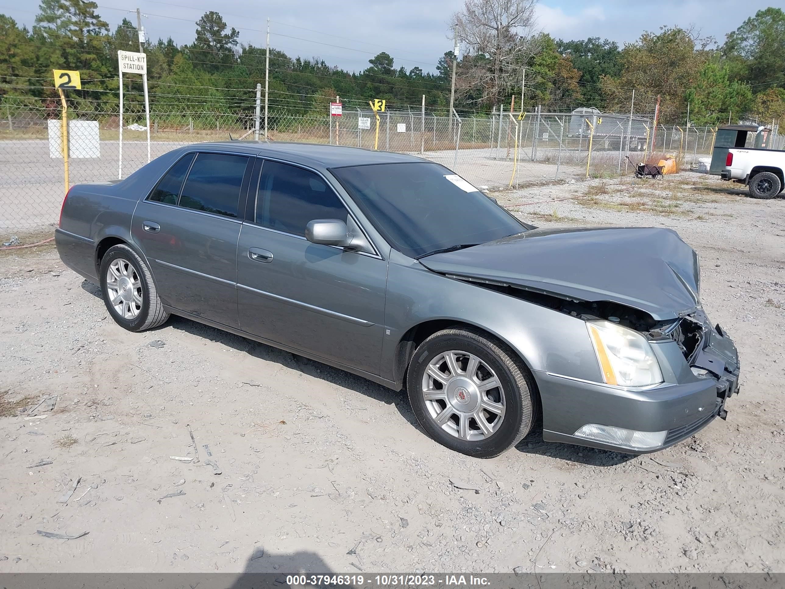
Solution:
[[[532,229],[419,262],[438,273],[617,302],[655,320],[700,305],[697,254],[672,229]]]

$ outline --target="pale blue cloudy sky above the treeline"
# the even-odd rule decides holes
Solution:
[[[229,26],[238,28],[240,41],[265,45],[269,16],[271,45],[295,57],[321,57],[328,64],[361,70],[379,51],[387,51],[396,67],[419,66],[433,71],[436,60],[451,49],[447,38],[451,13],[461,0],[97,0],[98,12],[114,28],[124,16],[135,21],[138,5],[152,39],[171,36],[178,44],[192,42],[195,20],[207,10],[217,10]],[[15,5],[14,5],[15,4]],[[644,30],[662,25],[695,26],[702,35],[719,42],[748,16],[776,0],[545,0],[537,6],[538,27],[555,38],[610,38],[619,45],[632,42]],[[13,3],[0,0],[0,13],[31,25],[36,0]],[[300,28],[298,28],[300,27]],[[305,29],[310,29],[305,30]],[[316,32],[319,31],[319,32]]]

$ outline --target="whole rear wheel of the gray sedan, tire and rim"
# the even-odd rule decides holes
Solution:
[[[113,282],[110,282],[110,274],[115,276]],[[150,269],[130,247],[124,244],[110,247],[100,262],[99,276],[104,304],[120,327],[128,331],[145,331],[169,319],[155,290]],[[112,304],[113,299],[119,301],[120,309]]]

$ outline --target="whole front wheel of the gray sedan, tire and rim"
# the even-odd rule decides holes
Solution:
[[[472,357],[476,364],[470,364]],[[488,387],[493,378],[500,387]],[[525,364],[508,346],[471,327],[438,331],[414,350],[407,392],[430,437],[476,458],[493,458],[517,444],[538,413],[535,382]]]

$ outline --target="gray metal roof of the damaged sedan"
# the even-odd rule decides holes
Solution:
[[[220,149],[286,159],[292,163],[309,166],[334,168],[344,166],[364,166],[372,163],[415,163],[429,160],[414,155],[392,152],[375,152],[372,149],[351,148],[338,145],[314,143],[294,143],[275,141],[215,141],[189,145],[188,149]]]

